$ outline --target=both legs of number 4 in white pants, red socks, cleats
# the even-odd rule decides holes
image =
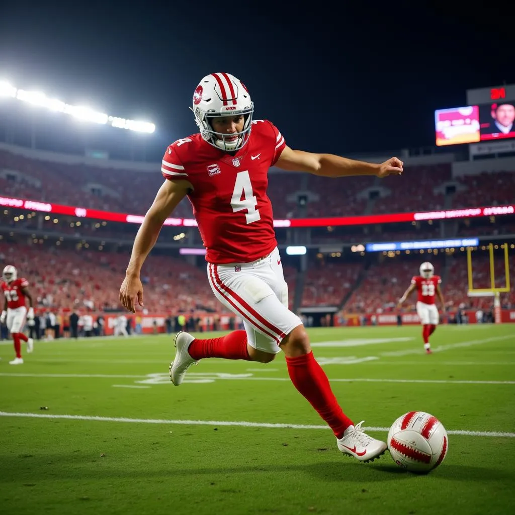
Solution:
[[[273,291],[265,282],[266,269],[262,279],[259,269],[234,273],[232,268],[233,273],[230,273],[230,267],[218,268],[216,273],[210,274],[215,295],[244,318],[247,331],[234,331],[221,338],[209,339],[179,333],[176,357],[170,365],[171,381],[175,385],[181,384],[187,369],[202,358],[224,357],[266,363],[281,349],[286,356],[291,382],[331,427],[338,449],[359,461],[371,461],[383,454],[386,443],[367,435],[362,422],[354,426],[343,413],[327,375],[313,356],[302,322],[287,308],[287,296]],[[285,286],[285,283],[281,285],[282,288]]]

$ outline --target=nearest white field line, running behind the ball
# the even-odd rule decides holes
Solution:
[[[67,420],[89,420],[97,422],[131,422],[141,424],[179,424],[179,425],[221,425],[221,426],[242,426],[242,427],[267,427],[285,429],[329,429],[327,425],[304,425],[304,424],[271,424],[266,422],[236,422],[227,420],[165,420],[165,419],[132,419],[125,417],[96,417],[89,415],[50,415],[41,413],[8,413],[0,411],[0,417],[23,417],[23,418],[46,418],[46,419],[67,419]],[[389,431],[389,427],[364,427],[365,431]],[[501,433],[488,431],[448,431],[449,435],[464,436],[495,436],[515,438],[515,433]]]

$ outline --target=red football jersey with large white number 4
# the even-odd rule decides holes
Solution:
[[[171,144],[161,171],[166,179],[193,185],[188,199],[210,263],[249,263],[276,246],[272,204],[266,194],[268,168],[286,143],[266,120],[252,122],[247,144],[234,155],[193,134]]]

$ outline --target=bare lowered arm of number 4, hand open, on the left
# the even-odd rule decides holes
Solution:
[[[164,221],[192,188],[188,181],[166,179],[145,215],[143,224],[134,239],[129,265],[119,293],[120,302],[131,313],[136,312],[136,299],[138,299],[140,306],[143,306],[143,285],[140,280],[141,267],[152,247],[156,244]]]

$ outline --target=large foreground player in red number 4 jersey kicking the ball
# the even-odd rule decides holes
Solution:
[[[143,262],[164,220],[187,196],[207,249],[213,293],[243,318],[245,331],[210,339],[179,333],[170,365],[173,384],[180,385],[187,369],[202,358],[269,363],[282,350],[291,382],[331,427],[338,449],[360,461],[374,459],[384,453],[386,443],[365,434],[362,422],[354,425],[343,413],[313,357],[301,320],[288,310],[267,174],[274,165],[328,178],[382,178],[401,174],[403,163],[391,158],[372,164],[292,150],[272,123],[252,119],[254,105],[247,88],[227,73],[200,81],[192,110],[200,133],[176,141],[164,153],[161,171],[166,180],[135,238],[120,301],[132,313],[136,299],[143,305]]]

